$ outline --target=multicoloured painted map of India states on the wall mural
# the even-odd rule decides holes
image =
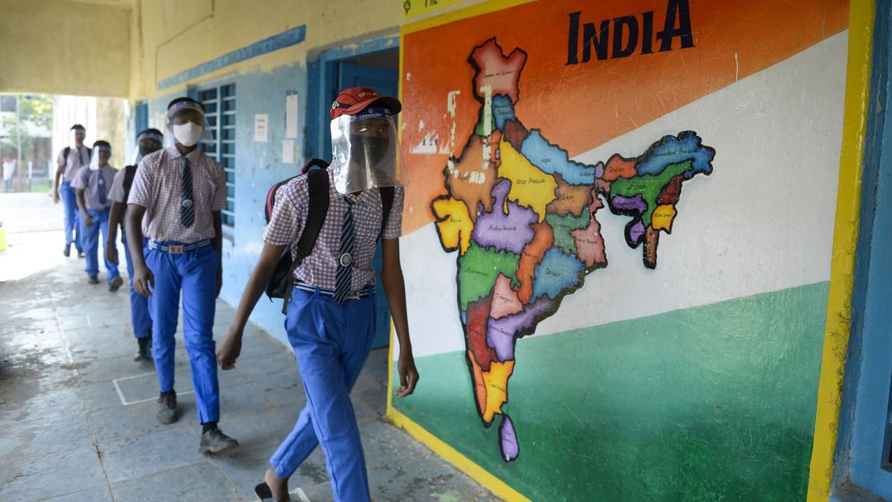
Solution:
[[[499,421],[506,462],[521,446],[502,411],[515,365],[523,364],[517,340],[607,267],[605,209],[627,219],[625,244],[640,247],[644,266],[655,269],[660,232],[672,233],[682,186],[709,175],[715,155],[685,130],[656,138],[638,156],[574,162],[560,138],[516,116],[526,58],[520,48],[503,54],[495,38],[469,55],[479,121],[443,170],[447,194],[431,202],[443,249],[458,253],[458,315],[476,409],[485,427]]]

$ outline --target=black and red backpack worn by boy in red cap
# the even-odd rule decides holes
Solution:
[[[291,299],[291,289],[293,288],[293,274],[303,262],[303,259],[313,252],[316,246],[316,239],[319,236],[319,230],[322,230],[322,223],[326,221],[328,213],[328,163],[321,159],[310,159],[303,165],[301,174],[306,175],[310,202],[307,208],[307,222],[303,225],[303,233],[297,241],[297,257],[292,259],[291,248],[285,249],[285,253],[279,258],[276,269],[273,271],[272,277],[267,283],[267,296],[269,301],[273,298],[282,298],[282,314],[288,312],[288,301]],[[267,204],[264,215],[267,218],[267,224],[273,215],[273,208],[276,206],[276,192],[278,189],[288,182],[297,178],[292,176],[287,180],[279,181],[269,188],[267,192]],[[387,224],[387,218],[390,216],[391,207],[393,205],[393,188],[378,188],[381,194],[382,205],[382,221],[381,233],[384,233],[384,226]],[[379,234],[380,237],[381,234]]]

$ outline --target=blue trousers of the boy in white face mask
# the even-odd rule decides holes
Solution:
[[[159,242],[161,246],[182,246]],[[155,286],[149,311],[152,314],[152,350],[161,392],[174,385],[174,349],[179,314],[179,292],[183,291],[183,339],[192,369],[195,404],[201,423],[218,422],[220,415],[217,355],[213,339],[217,307],[217,267],[220,255],[212,246],[173,255],[161,249],[144,249],[145,264]]]

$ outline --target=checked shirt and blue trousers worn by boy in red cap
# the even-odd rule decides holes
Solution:
[[[364,190],[357,197],[345,196],[335,191],[331,170],[328,175],[330,202],[326,220],[313,252],[294,271],[294,289],[285,318],[307,405],[269,464],[276,469],[277,476],[288,478],[321,446],[335,500],[368,500],[366,463],[350,390],[375,339],[372,259],[376,239],[382,232],[383,209],[377,189]],[[395,188],[383,238],[400,237],[403,197],[403,188]],[[296,256],[308,207],[306,176],[279,188],[264,240],[288,246]],[[347,219],[352,222],[352,252],[344,260],[343,228]],[[349,269],[350,275],[351,294],[343,303],[335,300],[339,268]]]

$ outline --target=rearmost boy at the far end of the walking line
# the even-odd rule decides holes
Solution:
[[[66,146],[59,152],[56,163],[58,167],[53,183],[53,202],[59,204],[62,199],[65,218],[65,247],[62,254],[71,255],[71,244],[78,250],[78,257],[84,257],[83,247],[80,245],[80,214],[78,213],[78,201],[71,181],[80,171],[81,167],[90,164],[90,149],[84,146],[84,138],[87,130],[80,124],[74,124],[70,130],[70,146]],[[60,184],[60,181],[62,183]]]

